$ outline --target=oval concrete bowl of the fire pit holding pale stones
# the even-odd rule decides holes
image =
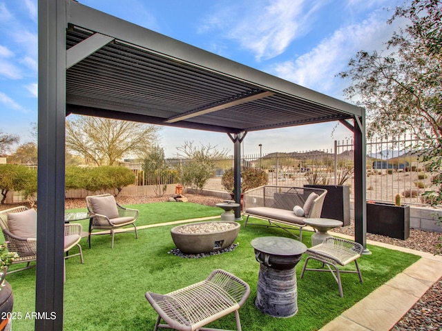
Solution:
[[[206,223],[217,223],[215,222],[199,222],[199,223],[189,223],[184,225],[175,226],[171,229],[171,236],[173,242],[177,248],[186,254],[199,254],[199,253],[209,253],[215,252],[217,250],[222,250],[229,247],[240,232],[240,223],[236,222],[226,222],[222,223],[232,223],[235,225],[233,228],[228,230],[218,231],[218,232],[204,232],[204,233],[182,233],[179,232],[180,228],[188,225],[203,225]],[[218,221],[220,223],[220,221]]]

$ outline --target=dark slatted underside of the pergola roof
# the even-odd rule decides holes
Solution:
[[[95,33],[71,25],[67,30],[66,49]],[[252,69],[244,66],[243,70]],[[263,92],[273,94],[260,97]],[[258,95],[258,99],[242,101],[253,95]],[[175,117],[204,112],[234,101],[238,104],[198,114],[173,125],[201,130],[216,127],[217,131],[238,133],[352,119],[355,111],[358,112],[356,107],[352,113],[284,94],[265,83],[244,81],[194,63],[177,61],[119,39],[113,39],[66,71],[67,110],[78,114],[92,114],[90,107],[102,108],[146,114],[146,122],[171,125],[167,121]]]

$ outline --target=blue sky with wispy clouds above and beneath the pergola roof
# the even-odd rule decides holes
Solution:
[[[381,50],[397,30],[396,0],[79,0],[86,6],[338,99],[336,77],[359,50]],[[390,8],[390,11],[387,10]],[[37,122],[37,0],[0,0],[0,130],[30,141]],[[227,134],[162,128],[166,156],[184,141],[230,150]],[[333,147],[352,133],[336,123],[249,132],[243,152]]]

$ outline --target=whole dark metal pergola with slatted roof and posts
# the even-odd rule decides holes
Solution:
[[[354,132],[355,240],[365,247],[365,111],[74,0],[39,0],[36,330],[63,328],[65,120],[84,114],[225,132],[236,201],[247,132],[340,121]],[[312,132],[314,134],[314,132]],[[239,210],[236,211],[237,217]]]

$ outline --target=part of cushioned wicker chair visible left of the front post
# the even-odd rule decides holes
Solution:
[[[20,221],[27,223],[29,226],[21,226]],[[0,212],[0,225],[3,236],[8,242],[8,250],[19,254],[19,257],[12,264],[26,263],[26,267],[8,273],[35,267],[35,263],[31,264],[31,262],[37,261],[37,213],[35,210],[28,209],[25,206],[2,210]],[[12,225],[12,228],[10,228],[10,225]],[[32,233],[31,237],[28,236],[30,233]]]

